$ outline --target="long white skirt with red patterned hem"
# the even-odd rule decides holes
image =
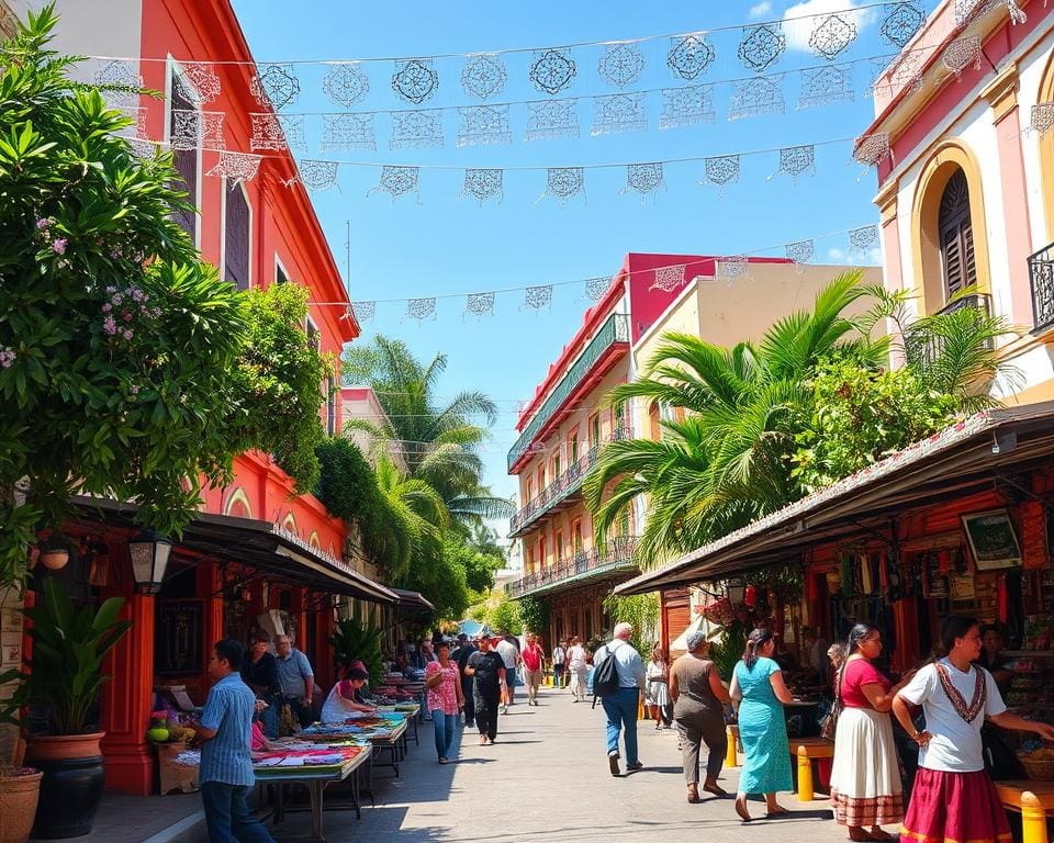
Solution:
[[[834,733],[831,807],[839,825],[871,828],[904,820],[889,715],[871,708],[842,710]]]

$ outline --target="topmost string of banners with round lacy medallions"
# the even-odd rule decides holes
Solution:
[[[956,0],[956,23],[960,27],[965,27],[982,14],[999,7],[1008,8],[1014,20],[1024,18],[1014,0]],[[460,59],[462,61],[460,88],[473,101],[485,103],[500,99],[508,82],[509,70],[505,56],[522,53],[530,59],[525,72],[534,89],[548,98],[556,98],[570,90],[576,78],[580,78],[579,65],[582,64],[582,58],[579,54],[592,49],[599,52],[596,59],[598,79],[610,89],[625,91],[637,83],[644,74],[648,64],[644,47],[666,42],[662,49],[664,53],[662,57],[670,74],[679,82],[692,82],[705,77],[718,58],[714,36],[726,32],[732,34],[737,31],[739,35],[735,55],[739,64],[747,71],[760,75],[778,67],[786,53],[785,26],[809,26],[807,42],[809,52],[833,64],[842,58],[856,42],[860,34],[857,22],[862,20],[862,15],[872,14],[872,10],[876,9],[883,10],[882,23],[878,26],[882,38],[897,49],[902,49],[908,44],[926,20],[921,0],[905,0],[862,4],[796,20],[771,21],[742,27],[722,27],[665,37],[425,58],[268,63],[254,66],[249,89],[264,110],[272,113],[287,112],[301,99],[305,86],[311,82],[310,78],[302,78],[302,74],[306,71],[310,77],[312,69],[315,69],[317,70],[315,75],[321,75],[321,79],[315,80],[314,83],[328,101],[335,106],[351,109],[366,100],[370,93],[371,79],[367,72],[367,66],[391,61],[392,95],[400,103],[419,106],[435,98],[439,91],[440,75],[436,69],[439,59]],[[183,66],[183,78],[192,87],[198,104],[208,103],[218,97],[222,83],[217,67],[227,64],[237,63],[190,63]],[[138,76],[137,63],[113,59],[104,68],[103,75],[106,81],[135,86]],[[817,74],[814,78],[820,80],[825,76],[830,75]],[[741,87],[751,86],[743,82]],[[605,98],[596,99],[603,101]],[[619,94],[614,94],[608,102],[612,108],[625,108],[621,103],[626,100],[620,99]],[[540,104],[535,104],[536,111],[543,111]],[[369,112],[369,115],[378,112]],[[543,116],[540,119],[546,120]]]

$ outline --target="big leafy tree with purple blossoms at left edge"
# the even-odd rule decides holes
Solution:
[[[247,300],[201,260],[171,155],[141,158],[117,134],[133,121],[66,78],[56,20],[0,47],[0,585],[70,495],[136,501],[178,535],[238,452],[277,453],[302,487],[315,470],[324,364],[290,342],[300,303]]]

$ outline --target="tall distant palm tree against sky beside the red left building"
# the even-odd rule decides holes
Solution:
[[[345,383],[368,383],[377,393],[386,419],[378,425],[351,419],[346,429],[367,431],[381,446],[401,454],[408,477],[439,493],[450,515],[459,520],[507,518],[513,505],[481,485],[483,462],[479,446],[487,427],[473,424],[482,416],[494,424],[497,407],[482,392],[460,392],[442,403],[435,396],[447,368],[447,356],[436,355],[427,366],[406,344],[378,336],[352,347],[344,357]]]

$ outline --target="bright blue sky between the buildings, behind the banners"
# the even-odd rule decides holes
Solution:
[[[831,12],[854,5],[852,0],[812,0],[808,3],[671,2],[608,0],[569,3],[538,0],[532,3],[457,3],[404,0],[399,3],[347,3],[337,0],[234,0],[235,9],[258,61],[358,59],[396,56],[433,56],[480,53],[514,47],[546,47],[647,35],[693,32],[732,26],[751,20],[797,16],[803,12]],[[801,7],[805,5],[805,9]],[[856,2],[862,7],[863,3]],[[932,2],[927,2],[927,10]],[[792,8],[793,7],[793,8]],[[601,12],[602,13],[598,13]],[[862,9],[852,21],[860,37],[840,60],[889,54],[881,38],[879,4]],[[726,119],[730,87],[722,80],[748,72],[736,56],[737,31],[715,33],[710,41],[717,58],[698,82],[716,82],[717,120],[687,128],[657,128],[659,97],[649,94],[649,130],[620,135],[590,136],[594,94],[616,92],[597,76],[603,48],[573,50],[578,63],[574,86],[562,97],[581,97],[582,133],[579,138],[523,139],[525,109],[513,105],[514,140],[507,146],[466,146],[455,143],[457,112],[444,112],[446,145],[441,149],[388,148],[388,119],[378,117],[377,153],[322,154],[318,138],[309,133],[303,157],[329,157],[372,164],[463,167],[551,167],[608,162],[655,161],[745,153],[754,149],[821,143],[860,134],[870,123],[873,102],[864,95],[868,63],[853,70],[856,95],[852,102],[823,108],[796,108],[800,78],[796,69],[821,63],[805,49],[810,24],[788,26],[790,48],[771,71],[787,72],[786,113],[748,120]],[[641,45],[646,68],[627,90],[677,85],[665,67],[669,40]],[[501,101],[542,97],[527,79],[529,53],[505,56],[508,83]],[[463,59],[437,59],[439,92],[422,108],[479,104],[461,89]],[[370,93],[356,111],[413,108],[392,93],[392,61],[363,65]],[[770,71],[770,72],[771,72]],[[303,91],[287,111],[335,111],[321,91],[324,69],[301,67]],[[686,82],[680,82],[686,85]],[[770,179],[777,155],[742,159],[739,183],[724,196],[714,187],[698,184],[703,164],[670,165],[666,190],[644,202],[619,195],[624,169],[586,173],[586,199],[565,205],[552,199],[536,202],[545,190],[543,171],[506,172],[504,199],[482,207],[462,198],[463,173],[426,171],[421,203],[413,196],[392,202],[384,193],[367,196],[377,183],[379,168],[341,169],[339,190],[314,194],[314,203],[330,247],[343,270],[350,222],[350,268],[347,284],[352,300],[407,299],[524,288],[575,281],[617,271],[627,251],[737,255],[763,247],[840,232],[877,222],[871,203],[873,173],[861,175],[850,162],[851,144],[818,147],[814,176],[796,182],[782,176]],[[782,251],[767,251],[781,255]],[[845,260],[844,236],[818,240],[817,258]],[[516,490],[505,473],[505,458],[516,439],[516,411],[527,400],[581,322],[588,302],[580,285],[557,288],[550,310],[522,310],[523,293],[498,295],[493,316],[463,317],[464,299],[438,302],[434,321],[405,317],[405,304],[379,304],[374,321],[363,325],[362,340],[380,331],[406,340],[423,358],[437,351],[449,357],[441,393],[482,390],[502,414],[485,447],[486,482],[507,495]]]

